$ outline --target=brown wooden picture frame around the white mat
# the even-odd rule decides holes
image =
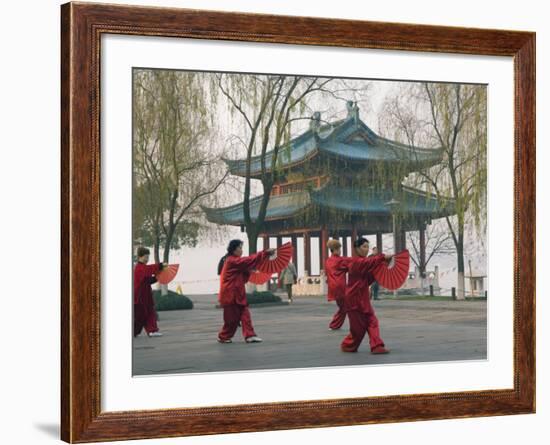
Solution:
[[[510,56],[514,60],[514,387],[102,412],[100,38],[169,36]],[[535,34],[91,3],[61,7],[61,437],[71,443],[535,411]],[[509,241],[508,241],[509,242]],[[78,286],[75,285],[78,283]]]

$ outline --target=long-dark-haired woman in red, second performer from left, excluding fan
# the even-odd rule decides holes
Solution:
[[[243,337],[247,343],[258,343],[262,339],[252,327],[244,285],[250,272],[271,255],[275,249],[267,249],[254,255],[243,257],[243,242],[232,240],[227,247],[227,254],[218,264],[220,274],[219,302],[223,307],[223,327],[218,333],[220,343],[231,343],[231,338],[242,324]]]

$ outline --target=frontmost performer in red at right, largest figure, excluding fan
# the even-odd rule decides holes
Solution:
[[[344,298],[344,309],[348,315],[350,333],[342,341],[344,352],[356,352],[368,332],[370,348],[373,354],[386,354],[380,338],[378,319],[370,302],[369,286],[372,280],[371,272],[382,261],[389,261],[393,255],[378,254],[367,258],[369,241],[359,238],[353,243],[357,256],[348,259],[348,284]]]

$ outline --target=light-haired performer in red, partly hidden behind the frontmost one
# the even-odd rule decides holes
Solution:
[[[337,239],[331,239],[327,243],[330,250],[330,257],[325,262],[325,273],[327,276],[328,301],[336,301],[338,310],[330,321],[329,328],[337,330],[342,327],[346,320],[344,310],[344,296],[346,293],[346,274],[348,272],[348,257],[340,256],[342,244]]]

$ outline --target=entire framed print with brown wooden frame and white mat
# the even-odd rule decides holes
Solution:
[[[534,412],[534,33],[61,18],[63,440]]]

